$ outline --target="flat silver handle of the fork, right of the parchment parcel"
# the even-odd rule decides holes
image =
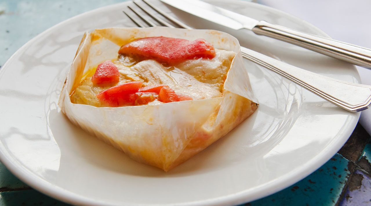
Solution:
[[[241,47],[244,58],[276,72],[350,112],[360,112],[371,104],[371,86],[344,82],[286,64]]]

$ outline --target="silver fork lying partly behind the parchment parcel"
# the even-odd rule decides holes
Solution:
[[[158,7],[154,6],[147,0],[141,1],[151,7],[151,10],[161,14],[161,16],[171,21],[177,26],[177,28],[193,29],[192,27],[161,11]],[[161,26],[175,28],[172,24],[152,14],[147,8],[137,3],[137,1],[133,1],[133,3],[151,18],[148,19],[147,16],[142,15],[137,9],[128,6],[128,8],[133,11],[137,17],[148,24],[142,24],[138,18],[132,16],[128,12],[123,11],[135,24],[137,24],[138,27],[157,26],[156,23],[152,21],[155,20]],[[371,104],[371,86],[344,82],[323,76],[321,74],[309,72],[299,67],[273,59],[264,54],[247,49],[246,47],[241,47],[241,52],[245,59],[248,59],[256,64],[259,64],[260,66],[280,74],[283,77],[286,77],[292,82],[299,84],[310,92],[322,97],[338,107],[341,107],[342,109],[350,112],[360,112],[367,109]]]

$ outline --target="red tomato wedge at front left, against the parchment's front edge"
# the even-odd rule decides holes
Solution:
[[[137,98],[135,93],[138,92],[141,86],[142,82],[128,82],[104,90],[96,97],[98,97],[99,101],[111,107],[134,105]]]

